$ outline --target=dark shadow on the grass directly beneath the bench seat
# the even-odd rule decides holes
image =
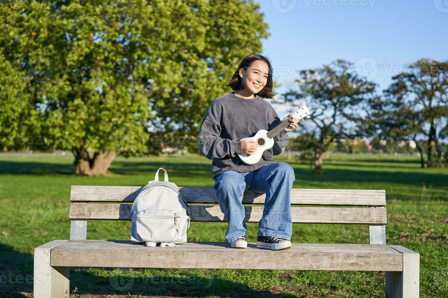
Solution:
[[[114,270],[113,268],[104,268]],[[71,272],[73,291],[75,285],[81,285],[76,294],[92,295],[148,295],[171,297],[297,297],[291,294],[274,295],[269,289],[252,290],[247,285],[239,282],[228,281],[222,278],[207,277],[207,273],[219,269],[202,269],[204,276],[190,273],[191,269],[182,269],[180,273],[172,273],[172,269],[152,269],[160,272],[152,276],[137,276],[131,274],[144,274],[144,269],[133,268],[132,273],[99,277],[86,269],[76,269]],[[198,269],[194,269],[198,272]],[[164,271],[168,271],[164,273]],[[200,275],[202,275],[200,274]],[[101,296],[102,297],[102,296]]]

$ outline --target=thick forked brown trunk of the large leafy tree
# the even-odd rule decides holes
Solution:
[[[95,152],[93,158],[89,157],[87,151],[74,150],[75,174],[83,176],[108,176],[108,168],[116,156],[116,151],[108,151],[106,154],[102,150]]]

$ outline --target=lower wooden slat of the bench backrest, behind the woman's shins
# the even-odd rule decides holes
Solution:
[[[69,218],[130,220],[131,204],[71,203]],[[263,206],[245,206],[246,222],[259,222]],[[190,205],[192,222],[227,222],[216,205]],[[294,223],[385,224],[386,208],[291,207]]]

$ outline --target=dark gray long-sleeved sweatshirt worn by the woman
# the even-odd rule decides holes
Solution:
[[[244,99],[230,92],[215,98],[199,128],[199,154],[213,159],[213,180],[226,171],[252,172],[275,163],[272,155],[279,155],[288,146],[286,130],[274,137],[274,146],[264,151],[256,164],[243,163],[238,153],[241,153],[241,139],[253,137],[258,130],[269,131],[281,120],[272,105],[257,95]]]

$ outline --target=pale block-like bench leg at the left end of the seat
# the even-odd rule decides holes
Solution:
[[[54,240],[34,248],[34,296],[35,298],[69,298],[70,267],[50,266],[50,251],[67,240]]]

